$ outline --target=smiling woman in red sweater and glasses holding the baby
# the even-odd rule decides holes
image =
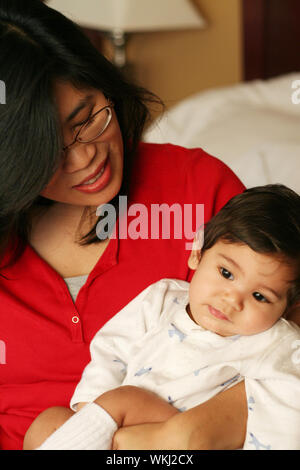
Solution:
[[[243,186],[201,150],[140,144],[155,97],[42,2],[0,0],[0,37],[0,448],[21,449],[42,410],[68,406],[96,331],[150,283],[190,279],[184,236],[130,237],[120,218],[108,238],[97,207],[128,197],[128,226],[132,204],[204,204],[208,220]],[[243,384],[204,405],[173,448],[239,447]]]

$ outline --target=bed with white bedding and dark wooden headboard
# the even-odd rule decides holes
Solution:
[[[170,108],[144,141],[202,147],[247,187],[283,183],[300,193],[298,0],[243,0],[243,81]]]

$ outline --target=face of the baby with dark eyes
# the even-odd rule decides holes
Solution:
[[[260,333],[283,314],[293,276],[293,268],[274,256],[218,241],[197,266],[188,313],[221,336]]]

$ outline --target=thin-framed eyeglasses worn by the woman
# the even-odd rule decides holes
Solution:
[[[111,118],[112,118],[112,108],[114,103],[109,101],[107,106],[99,109],[95,114],[93,114],[79,129],[75,139],[69,145],[65,145],[62,150],[65,152],[68,148],[75,144],[75,142],[80,142],[87,144],[93,140],[100,137],[103,132],[107,129]]]

